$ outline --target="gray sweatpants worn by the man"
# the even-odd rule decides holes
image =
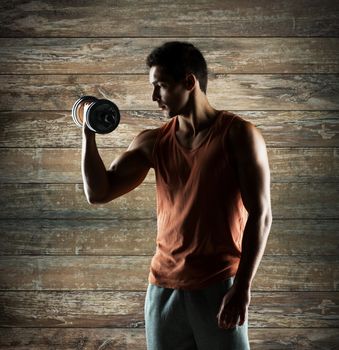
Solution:
[[[222,298],[234,278],[198,290],[148,284],[145,331],[148,350],[249,350],[248,321],[233,329],[218,327]]]

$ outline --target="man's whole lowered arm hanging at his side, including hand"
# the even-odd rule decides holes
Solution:
[[[250,303],[250,288],[258,269],[272,222],[270,171],[265,142],[250,123],[236,121],[229,133],[229,145],[238,175],[243,203],[248,211],[242,254],[233,286],[223,299],[218,323],[232,328],[243,324]]]

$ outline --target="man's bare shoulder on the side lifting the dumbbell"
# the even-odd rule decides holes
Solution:
[[[136,135],[128,146],[127,151],[140,151],[146,157],[151,167],[153,167],[152,151],[160,128],[146,129]]]

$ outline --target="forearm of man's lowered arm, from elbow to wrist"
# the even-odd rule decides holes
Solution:
[[[271,212],[265,215],[250,214],[242,240],[242,254],[234,284],[251,288],[253,278],[265,251],[271,228]]]

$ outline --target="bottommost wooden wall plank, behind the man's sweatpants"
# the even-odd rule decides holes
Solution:
[[[267,335],[269,333],[269,336]],[[251,350],[317,349],[334,350],[337,328],[254,328],[248,329]],[[1,349],[50,350],[81,348],[145,350],[144,328],[0,328]]]

